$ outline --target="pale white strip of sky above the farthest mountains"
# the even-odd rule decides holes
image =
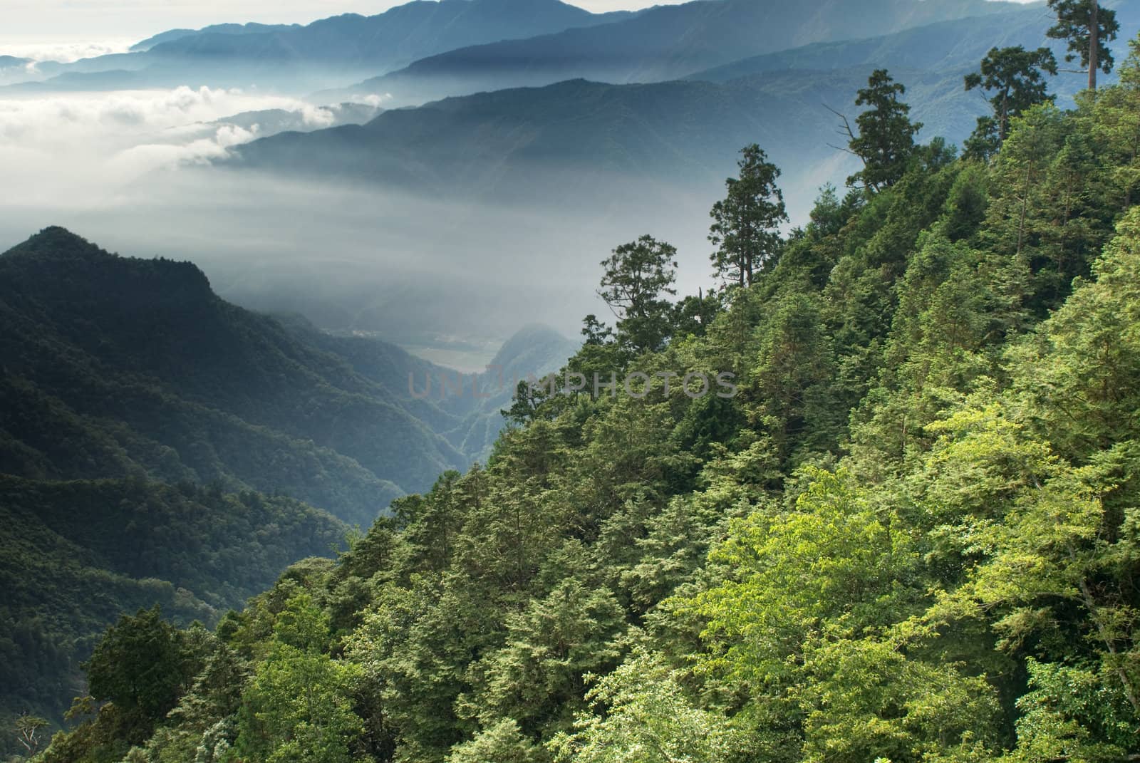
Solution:
[[[378,14],[405,0],[0,0],[0,46],[138,40],[163,30],[219,22],[307,23],[343,13]],[[683,0],[577,0],[593,11]],[[0,50],[3,52],[3,50]]]

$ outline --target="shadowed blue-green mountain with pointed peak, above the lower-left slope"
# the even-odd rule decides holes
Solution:
[[[0,325],[2,473],[218,481],[368,522],[482,453],[443,436],[472,411],[407,391],[454,372],[376,340],[350,362],[343,341],[222,301],[188,262],[62,228],[0,255]]]

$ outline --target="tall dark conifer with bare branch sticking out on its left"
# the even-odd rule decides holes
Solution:
[[[844,120],[844,129],[850,139],[848,151],[863,161],[863,169],[847,179],[849,186],[861,186],[879,192],[897,182],[911,156],[914,154],[914,136],[922,124],[911,122],[910,105],[899,100],[906,92],[901,82],[895,82],[885,68],[877,68],[868,80],[868,87],[858,91],[856,106],[868,109],[855,117],[858,135]]]

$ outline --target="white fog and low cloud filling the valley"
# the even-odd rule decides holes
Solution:
[[[645,233],[681,250],[682,294],[711,283],[707,189],[644,194],[613,178],[596,198],[523,209],[210,165],[261,133],[211,122],[266,108],[312,129],[327,119],[210,88],[0,100],[0,251],[62,225],[122,254],[194,261],[254,309],[489,351],[535,322],[576,336],[584,315],[606,311],[598,261]]]

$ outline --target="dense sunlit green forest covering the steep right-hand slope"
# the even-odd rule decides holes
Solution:
[[[1052,5],[1112,70],[1110,11],[1090,62]],[[1140,38],[1072,111],[1047,54],[967,79],[994,112],[961,152],[874,72],[862,169],[790,235],[747,147],[722,289],[618,246],[616,322],[484,465],[214,631],[122,617],[72,730],[14,733],[43,763],[1134,760]]]

